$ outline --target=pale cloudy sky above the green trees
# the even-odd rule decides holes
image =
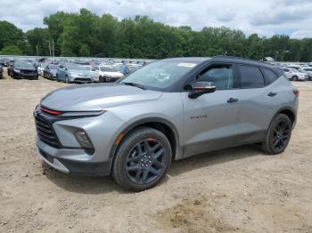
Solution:
[[[312,37],[312,0],[0,0],[0,20],[23,31],[43,28],[45,16],[86,8],[98,15],[111,13],[119,20],[147,15],[171,26],[225,26],[246,35],[283,34]]]

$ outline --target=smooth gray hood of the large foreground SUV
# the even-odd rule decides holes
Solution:
[[[45,95],[41,105],[59,111],[96,111],[130,102],[156,100],[161,92],[125,84],[70,85]]]

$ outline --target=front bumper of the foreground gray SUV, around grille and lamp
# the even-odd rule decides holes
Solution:
[[[112,151],[119,128],[124,125],[110,111],[100,116],[75,119],[55,119],[45,116],[53,125],[59,145],[53,146],[42,141],[37,136],[37,151],[45,163],[63,173],[78,173],[84,175],[109,175],[111,173]],[[113,122],[114,124],[111,124]],[[79,145],[74,133],[83,129],[94,146],[90,154]]]

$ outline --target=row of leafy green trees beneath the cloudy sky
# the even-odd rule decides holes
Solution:
[[[312,38],[246,36],[241,30],[171,27],[147,16],[118,20],[111,14],[56,12],[45,17],[46,28],[24,33],[0,21],[0,54],[161,59],[229,55],[262,60],[312,61]]]

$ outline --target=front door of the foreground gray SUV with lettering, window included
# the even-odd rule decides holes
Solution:
[[[184,156],[232,147],[237,133],[239,91],[234,89],[232,64],[209,65],[194,77],[195,81],[213,83],[216,92],[190,99],[182,92],[184,102]]]

